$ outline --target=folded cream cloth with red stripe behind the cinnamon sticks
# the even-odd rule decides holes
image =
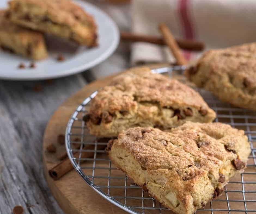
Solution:
[[[158,35],[165,23],[176,38],[195,39],[206,49],[256,41],[255,0],[134,0],[132,32]],[[167,54],[166,54],[167,53]],[[186,52],[188,59],[198,52]],[[166,47],[150,43],[132,45],[132,65],[141,62],[174,62]]]

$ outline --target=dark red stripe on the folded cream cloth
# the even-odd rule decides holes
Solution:
[[[189,3],[189,0],[179,0],[178,10],[180,13],[181,22],[184,27],[185,38],[193,39],[194,32],[193,32],[191,21],[188,16],[188,3]],[[190,59],[190,55],[191,55],[190,51],[184,51],[185,58]]]

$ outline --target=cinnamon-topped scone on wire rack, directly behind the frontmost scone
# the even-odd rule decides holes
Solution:
[[[199,93],[142,67],[115,77],[100,89],[84,120],[91,134],[117,137],[130,127],[166,130],[185,121],[211,122],[215,116]]]

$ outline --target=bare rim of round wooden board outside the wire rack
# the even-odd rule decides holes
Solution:
[[[164,64],[151,65],[148,67],[157,68],[160,67],[160,65],[163,66]],[[127,71],[129,70],[123,72]],[[69,97],[54,112],[45,129],[42,154],[45,179],[51,193],[65,213],[126,213],[97,194],[82,180],[75,170],[70,171],[57,181],[54,181],[48,174],[48,170],[60,162],[56,158],[58,153],[65,151],[65,145],[57,144],[57,136],[59,134],[65,134],[66,124],[71,114],[87,96],[100,87],[107,85],[114,76],[94,81],[83,87],[75,95]],[[46,151],[46,147],[51,143],[57,147],[57,153],[52,154]]]

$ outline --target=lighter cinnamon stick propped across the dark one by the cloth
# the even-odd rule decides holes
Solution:
[[[169,46],[170,51],[172,52],[172,54],[176,58],[176,64],[186,65],[187,60],[182,55],[182,52],[179,49],[179,46],[178,46],[177,42],[175,41],[172,33],[170,32],[170,30],[168,29],[166,24],[159,24],[159,30],[160,30],[160,32],[163,36],[164,42],[166,43],[166,45]]]

